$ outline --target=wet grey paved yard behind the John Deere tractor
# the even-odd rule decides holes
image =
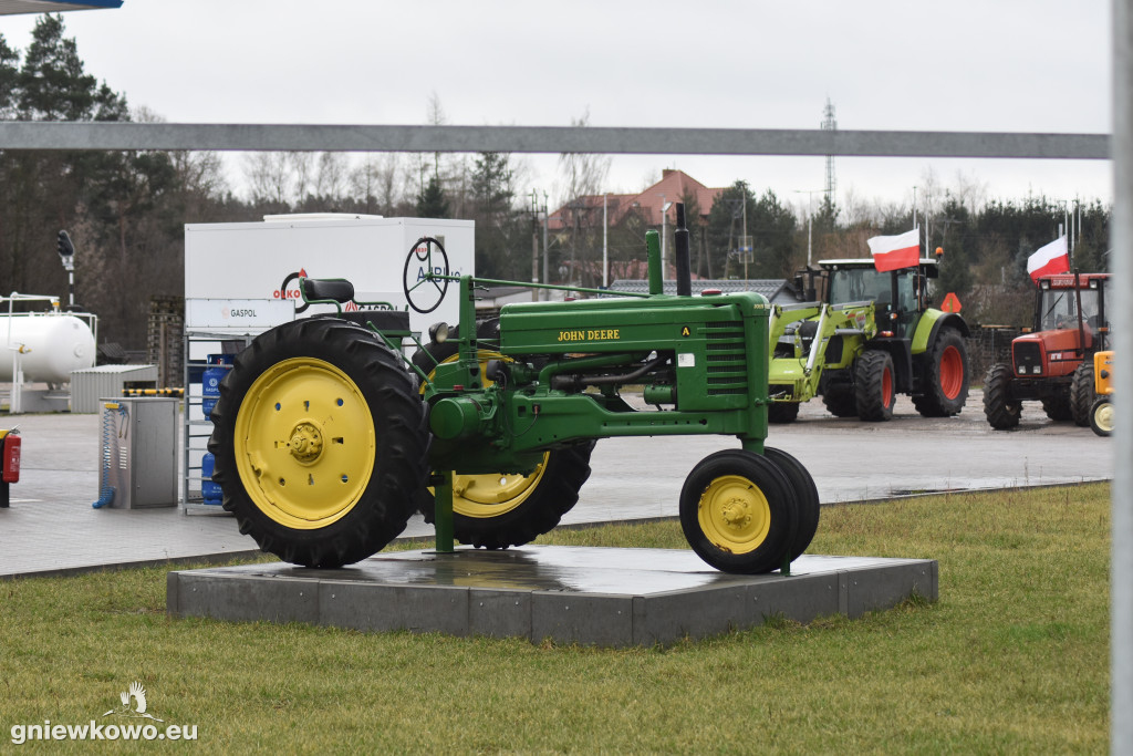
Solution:
[[[0,509],[0,578],[258,553],[219,509],[189,516],[172,509],[92,509],[99,498],[99,415],[0,416],[0,427],[11,425],[23,434],[23,466],[10,508]],[[1114,472],[1109,439],[1051,423],[1037,402],[1024,405],[1019,431],[991,431],[979,391],[960,416],[947,419],[920,417],[906,398],[898,399],[889,423],[834,418],[812,401],[796,423],[772,426],[768,443],[810,469],[824,504],[1110,479]],[[696,462],[735,445],[721,436],[605,439],[579,503],[563,523],[675,517],[681,485]],[[867,447],[900,450],[909,461],[862,464],[860,450]],[[415,517],[403,535],[432,537],[433,527]]]

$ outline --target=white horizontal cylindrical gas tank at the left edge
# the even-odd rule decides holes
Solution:
[[[0,382],[11,381],[15,349],[20,347],[25,381],[66,383],[71,371],[94,367],[94,334],[74,315],[0,314]]]

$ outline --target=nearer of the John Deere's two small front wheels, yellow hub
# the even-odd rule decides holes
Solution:
[[[681,529],[700,559],[722,572],[761,575],[795,545],[799,503],[767,457],[726,449],[705,457],[681,489]]]

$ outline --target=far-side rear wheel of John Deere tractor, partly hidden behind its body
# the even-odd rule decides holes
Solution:
[[[477,338],[489,338],[487,333],[492,331],[499,334],[497,323],[499,321],[486,321],[479,324]],[[414,356],[414,364],[428,375],[437,364],[452,359],[455,354],[455,341],[429,343]],[[508,549],[530,543],[554,529],[563,515],[578,503],[578,492],[590,477],[590,453],[594,445],[594,441],[588,441],[552,449],[539,469],[529,476],[454,475],[453,537],[477,549]],[[534,483],[527,485],[527,479],[533,479]],[[471,495],[457,493],[474,491],[472,486],[477,483],[482,487],[495,486],[494,494],[503,492],[502,495],[508,498],[492,495],[476,500]],[[416,501],[425,521],[435,521],[436,503],[429,490],[421,487]]]

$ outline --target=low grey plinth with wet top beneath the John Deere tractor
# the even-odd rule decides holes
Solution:
[[[377,554],[342,570],[179,570],[169,574],[167,605],[172,617],[630,646],[719,635],[775,614],[857,617],[913,591],[936,600],[935,574],[931,560],[803,555],[790,576],[741,576],[684,550],[528,545]]]

